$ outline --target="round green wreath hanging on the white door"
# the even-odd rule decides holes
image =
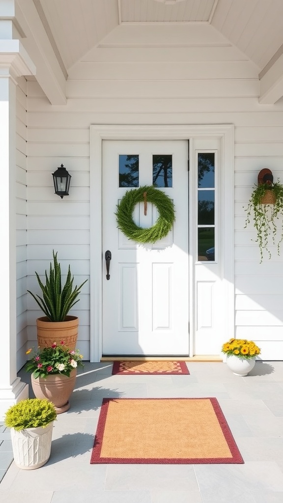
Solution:
[[[159,211],[159,217],[152,227],[138,227],[132,219],[134,207],[140,202],[145,202],[145,207],[147,202],[153,203]],[[115,215],[118,228],[125,236],[138,243],[155,243],[162,239],[167,236],[175,221],[171,199],[161,190],[149,185],[127,191],[117,205]]]

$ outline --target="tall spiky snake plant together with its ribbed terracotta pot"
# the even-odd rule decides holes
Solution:
[[[74,276],[68,267],[68,273],[64,286],[61,282],[61,268],[57,261],[57,253],[53,250],[53,265],[50,262],[49,275],[45,271],[45,285],[42,283],[39,275],[35,272],[38,284],[42,291],[42,297],[28,292],[44,312],[36,320],[37,326],[37,344],[40,348],[48,347],[55,341],[65,341],[70,349],[75,349],[78,339],[78,316],[70,316],[68,312],[79,302],[78,295],[82,286],[88,281],[85,280],[79,287],[73,287]]]

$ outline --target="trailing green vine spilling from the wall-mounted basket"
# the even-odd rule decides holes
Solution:
[[[274,194],[274,203],[262,204],[266,191]],[[279,182],[256,185],[245,211],[247,211],[247,218],[244,228],[253,218],[253,225],[257,232],[255,241],[260,250],[260,263],[263,261],[263,250],[266,250],[269,259],[271,258],[268,247],[270,237],[274,244],[277,241],[277,253],[280,255],[280,243],[283,240],[283,185]]]

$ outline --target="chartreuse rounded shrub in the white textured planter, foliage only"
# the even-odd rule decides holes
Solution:
[[[45,428],[57,417],[55,407],[47,398],[27,398],[12,405],[6,412],[4,423],[16,431],[26,428]]]

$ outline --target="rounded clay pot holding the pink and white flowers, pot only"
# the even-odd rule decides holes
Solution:
[[[77,377],[77,369],[73,369],[70,376],[50,374],[34,378],[31,375],[31,385],[36,398],[48,398],[54,403],[57,414],[66,412],[70,408],[69,397],[72,395]]]

